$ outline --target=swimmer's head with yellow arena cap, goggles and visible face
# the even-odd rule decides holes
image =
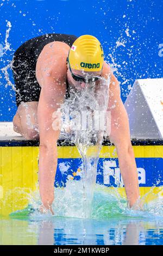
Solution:
[[[68,81],[78,88],[85,86],[85,78],[95,77],[96,81],[96,76],[101,75],[103,63],[104,52],[98,39],[92,35],[79,36],[68,53]]]

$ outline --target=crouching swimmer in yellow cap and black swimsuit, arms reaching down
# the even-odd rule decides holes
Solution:
[[[110,140],[117,149],[121,175],[129,206],[139,198],[139,182],[129,121],[120,95],[120,85],[104,61],[101,43],[95,36],[46,34],[24,42],[15,52],[12,72],[17,111],[14,131],[27,139],[40,139],[39,190],[42,211],[53,214],[54,179],[57,169],[57,141],[60,129],[52,127],[70,88],[85,88],[86,79],[98,83],[110,76],[108,111],[111,111]],[[114,108],[112,106],[115,106]]]

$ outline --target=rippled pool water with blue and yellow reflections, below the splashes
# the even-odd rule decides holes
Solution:
[[[163,221],[147,218],[2,218],[1,245],[162,245]]]

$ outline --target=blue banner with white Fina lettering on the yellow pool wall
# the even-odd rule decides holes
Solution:
[[[163,185],[163,159],[161,157],[136,158],[140,187]],[[55,187],[65,187],[67,180],[80,180],[82,159],[58,159]],[[107,187],[124,187],[118,159],[99,159],[96,182]]]

